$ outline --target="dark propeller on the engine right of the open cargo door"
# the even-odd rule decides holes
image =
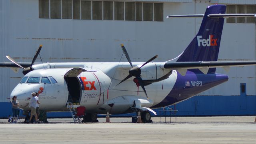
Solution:
[[[124,55],[126,56],[128,62],[130,63],[130,65],[132,66],[132,61],[126,51],[126,48],[124,47],[123,44],[121,44],[121,47],[122,47],[122,50],[124,52]],[[138,66],[132,66],[132,68],[129,70],[129,75],[126,76],[126,78],[124,78],[121,82],[119,82],[119,84],[121,84],[122,82],[126,81],[128,78],[131,78],[132,76],[134,76],[137,81],[138,81],[138,84],[142,87],[142,89],[144,90],[144,93],[146,94],[146,97],[148,98],[148,95],[147,95],[147,92],[145,90],[145,87],[144,87],[144,83],[143,83],[143,80],[142,78],[140,77],[140,74],[141,74],[141,70],[140,68],[142,68],[143,66],[145,66],[146,64],[148,64],[149,62],[151,62],[152,60],[154,60],[155,58],[157,58],[158,55],[150,58],[147,62],[145,62],[144,64],[142,64],[142,66],[138,67]],[[118,85],[118,84],[117,84]]]

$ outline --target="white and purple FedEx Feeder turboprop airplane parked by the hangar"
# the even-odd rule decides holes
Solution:
[[[217,62],[225,17],[256,16],[256,14],[225,14],[226,6],[212,5],[202,15],[172,17],[203,17],[198,34],[177,58],[167,62],[132,62],[124,45],[128,62],[63,62],[34,64],[10,62],[0,66],[14,70],[23,68],[24,78],[10,98],[17,96],[20,108],[28,108],[32,92],[40,93],[40,109],[48,112],[68,111],[67,103],[86,108],[84,122],[94,121],[95,114],[141,112],[143,122],[150,122],[154,108],[177,104],[228,81],[216,68],[256,65],[256,61]]]

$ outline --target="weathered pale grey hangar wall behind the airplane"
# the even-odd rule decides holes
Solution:
[[[164,6],[163,22],[146,22],[43,19],[38,18],[38,0],[1,0],[0,61],[8,61],[5,56],[9,55],[18,62],[31,62],[40,44],[43,44],[40,53],[43,62],[116,62],[122,55],[120,44],[126,46],[132,61],[146,61],[156,54],[156,62],[170,60],[188,46],[202,18],[165,17],[170,14],[203,14],[206,7],[215,1],[157,0]],[[236,4],[232,0],[221,2]],[[253,2],[256,0],[251,2],[244,4],[255,4]],[[255,41],[255,23],[225,22],[218,60],[256,60]],[[255,99],[255,66],[231,68],[229,72],[217,68],[217,72],[227,74],[229,81],[199,94],[196,98],[202,98],[202,103],[209,103],[210,97],[212,100],[226,101],[240,96],[240,83],[246,83],[248,97]],[[0,68],[0,102],[8,102],[6,98],[22,76],[21,70],[14,73],[9,68]],[[215,99],[215,96],[220,96],[220,99]],[[240,105],[240,102],[234,101],[236,105]],[[256,101],[250,102],[254,105],[250,108],[254,108],[256,113]],[[181,105],[183,103],[186,102]],[[191,109],[189,105],[183,105],[183,108]]]

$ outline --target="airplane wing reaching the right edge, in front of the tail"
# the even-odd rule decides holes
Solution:
[[[209,68],[222,67],[228,71],[231,66],[252,66],[256,65],[256,61],[224,61],[224,62],[166,62],[164,68],[178,70],[183,76],[188,69],[198,68],[204,74],[207,74]]]

